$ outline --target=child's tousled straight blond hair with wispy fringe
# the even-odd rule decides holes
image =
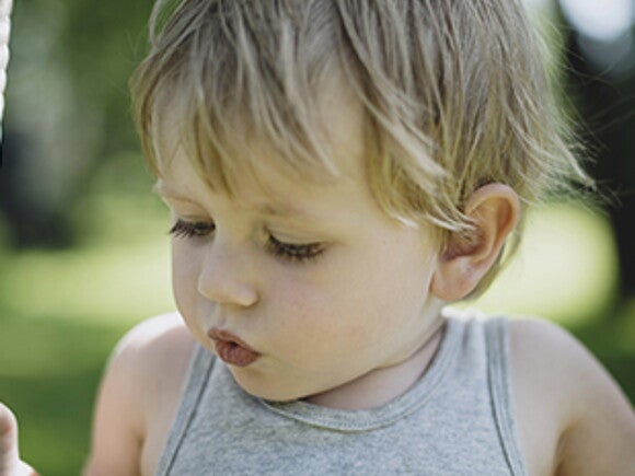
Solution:
[[[447,237],[472,231],[462,207],[485,184],[509,185],[526,205],[592,186],[520,0],[172,3],[157,3],[152,49],[131,80],[158,175],[160,123],[172,114],[196,170],[227,193],[236,172],[254,171],[257,154],[234,153],[254,139],[276,152],[272,165],[336,176],[313,112],[337,78],[363,108],[368,183],[393,218]]]

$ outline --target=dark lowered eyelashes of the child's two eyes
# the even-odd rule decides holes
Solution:
[[[215,230],[216,225],[212,222],[190,222],[177,220],[176,223],[174,223],[174,225],[170,229],[169,233],[172,236],[188,239],[207,236],[210,233],[213,233]],[[320,254],[322,254],[322,252],[324,252],[324,245],[322,243],[285,243],[277,240],[272,234],[269,234],[267,240],[266,248],[272,255],[293,263],[309,262],[316,258]]]

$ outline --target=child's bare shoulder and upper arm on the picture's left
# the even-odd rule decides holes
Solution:
[[[147,473],[148,441],[161,441],[158,428],[170,425],[193,347],[176,313],[143,321],[119,340],[100,385],[84,474]]]

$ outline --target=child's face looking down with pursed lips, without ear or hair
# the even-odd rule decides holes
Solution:
[[[262,167],[269,193],[244,178],[231,199],[212,193],[181,150],[158,186],[181,234],[172,245],[181,314],[211,351],[210,329],[255,350],[253,362],[230,369],[268,399],[324,393],[406,360],[441,305],[429,293],[431,233],[378,208],[362,173],[360,120],[337,109],[327,124],[344,174],[332,185]]]

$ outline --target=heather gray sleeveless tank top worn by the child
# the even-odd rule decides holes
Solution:
[[[447,318],[424,376],[378,408],[265,402],[198,347],[157,475],[526,475],[505,318]]]

